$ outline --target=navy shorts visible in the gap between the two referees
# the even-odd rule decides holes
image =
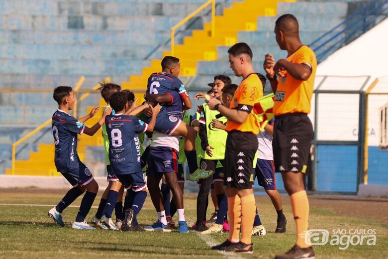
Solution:
[[[272,160],[257,159],[254,169],[253,181],[257,177],[257,183],[266,190],[276,190],[275,165]]]

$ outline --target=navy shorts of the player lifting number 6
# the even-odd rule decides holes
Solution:
[[[172,147],[152,146],[147,159],[147,175],[178,173],[178,154]]]

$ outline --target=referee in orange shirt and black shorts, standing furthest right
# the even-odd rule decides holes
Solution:
[[[314,52],[299,38],[298,21],[292,14],[280,16],[275,23],[276,41],[288,57],[275,62],[267,54],[264,69],[275,93],[274,162],[282,173],[285,189],[290,195],[296,224],[296,244],[276,259],[315,258],[312,247],[305,243],[308,230],[309,205],[302,174],[306,164],[313,129],[307,114],[314,89],[317,61]],[[279,79],[278,79],[279,77]]]

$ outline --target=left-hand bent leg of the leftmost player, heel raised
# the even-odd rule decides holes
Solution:
[[[62,173],[65,179],[73,186],[66,195],[62,198],[62,200],[49,210],[48,216],[54,220],[54,222],[58,223],[61,227],[65,227],[65,223],[62,220],[62,212],[66,209],[70,204],[72,204],[78,197],[80,197],[85,191],[85,186],[81,186],[78,184],[78,181],[71,175],[67,173]]]

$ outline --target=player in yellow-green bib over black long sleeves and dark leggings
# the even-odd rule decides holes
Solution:
[[[213,84],[213,93],[214,98],[221,100],[222,89],[225,85],[231,83],[231,80],[228,76],[217,75],[214,77]],[[201,98],[203,94],[197,94],[195,98]],[[196,227],[197,231],[200,231],[201,234],[206,235],[210,233],[223,233],[223,223],[226,218],[228,211],[227,207],[227,198],[223,190],[223,177],[220,177],[223,169],[216,170],[218,161],[221,164],[224,163],[225,157],[225,143],[227,132],[223,129],[214,128],[212,125],[214,121],[226,124],[227,119],[222,116],[217,111],[212,111],[209,109],[206,103],[203,104],[203,117],[199,120],[199,137],[201,139],[202,152],[199,154],[200,168],[202,170],[211,170],[216,172],[212,177],[205,179],[200,179],[200,188],[196,201]],[[205,216],[205,205],[206,199],[209,195],[211,184],[214,184],[214,189],[217,194],[217,203],[218,203],[218,213],[217,220],[209,229],[207,229],[202,223],[202,219]]]

